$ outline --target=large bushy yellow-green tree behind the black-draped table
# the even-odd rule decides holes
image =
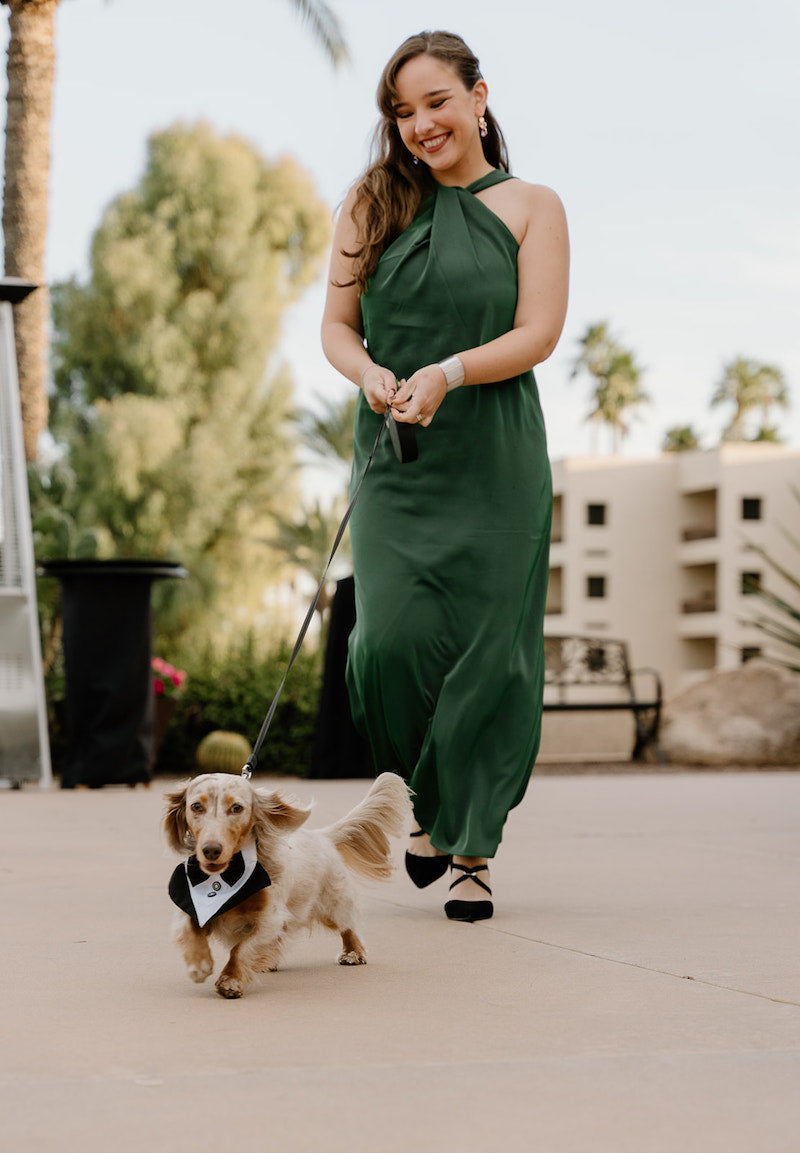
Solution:
[[[277,578],[264,538],[295,498],[292,385],[266,366],[327,236],[290,159],[176,126],[106,211],[90,281],[53,291],[62,512],[103,556],[186,565],[159,590],[173,638],[249,626]]]

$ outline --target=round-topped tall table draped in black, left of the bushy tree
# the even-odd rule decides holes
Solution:
[[[61,581],[67,753],[62,789],[150,781],[154,580],[186,576],[167,560],[47,560]]]

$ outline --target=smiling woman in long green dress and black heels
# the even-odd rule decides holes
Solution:
[[[410,784],[420,887],[491,917],[488,859],[538,751],[552,491],[531,369],[567,304],[560,201],[508,174],[478,61],[422,32],[378,86],[375,160],[340,213],[323,319],[359,385],[354,476],[387,407],[418,459],[379,445],[350,522],[347,668],[379,771]]]

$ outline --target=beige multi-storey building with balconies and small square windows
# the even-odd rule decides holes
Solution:
[[[667,698],[738,668],[769,643],[747,624],[748,587],[786,593],[750,545],[800,568],[783,532],[800,536],[792,485],[800,452],[772,444],[554,461],[545,633],[627,641]]]

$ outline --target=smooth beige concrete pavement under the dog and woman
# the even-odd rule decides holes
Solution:
[[[5,1148],[800,1147],[800,773],[538,778],[493,920],[398,875],[367,967],[320,932],[241,1001],[168,941],[167,785],[0,794]],[[293,787],[323,824],[365,784]]]

